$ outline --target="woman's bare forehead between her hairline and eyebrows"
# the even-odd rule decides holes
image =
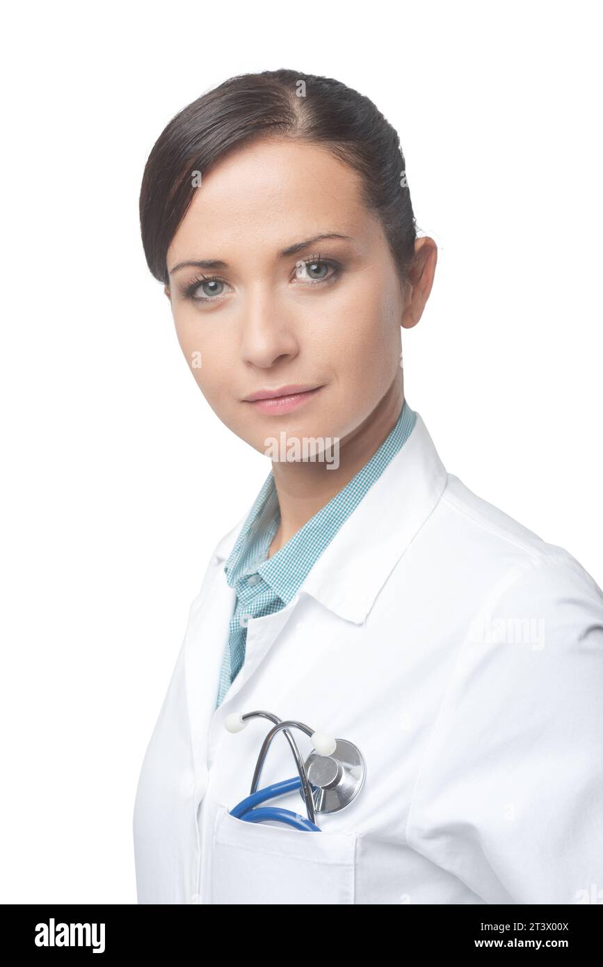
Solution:
[[[327,230],[354,238],[378,230],[360,197],[358,173],[318,145],[257,141],[203,176],[168,257],[218,257],[251,243],[268,251]]]

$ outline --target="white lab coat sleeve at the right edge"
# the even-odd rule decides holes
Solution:
[[[486,903],[603,901],[603,594],[559,551],[475,613],[416,777],[409,844]]]

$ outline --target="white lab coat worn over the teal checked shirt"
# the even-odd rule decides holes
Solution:
[[[600,903],[603,594],[588,572],[447,474],[417,414],[294,600],[249,621],[215,710],[243,523],[215,547],[144,757],[138,902]],[[317,814],[321,833],[229,815],[270,723],[231,734],[224,718],[258,709],[362,752],[359,795]],[[277,737],[261,785],[295,775]],[[297,792],[273,805],[304,813]]]

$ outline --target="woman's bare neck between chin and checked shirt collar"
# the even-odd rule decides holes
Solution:
[[[339,440],[339,465],[321,461],[273,461],[280,523],[269,557],[294,537],[377,453],[396,425],[404,403],[402,379],[396,377],[375,409],[356,429]]]

